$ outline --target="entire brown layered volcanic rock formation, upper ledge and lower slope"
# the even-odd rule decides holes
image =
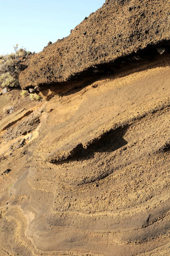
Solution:
[[[0,121],[0,256],[169,255],[169,7],[107,0],[32,55],[44,99]]]

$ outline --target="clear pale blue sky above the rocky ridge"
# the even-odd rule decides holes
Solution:
[[[48,41],[67,36],[105,0],[0,0],[0,54],[13,45],[41,51]]]

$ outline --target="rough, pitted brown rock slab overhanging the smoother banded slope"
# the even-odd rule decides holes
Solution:
[[[69,36],[31,57],[21,87],[66,81],[88,68],[96,73],[98,64],[169,40],[169,7],[168,0],[107,0]]]

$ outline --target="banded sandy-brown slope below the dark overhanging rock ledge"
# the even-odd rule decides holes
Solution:
[[[168,255],[169,74],[162,54],[36,107],[1,154],[0,256]]]

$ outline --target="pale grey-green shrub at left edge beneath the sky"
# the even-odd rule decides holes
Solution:
[[[0,87],[18,87],[18,75],[20,71],[20,58],[31,54],[25,48],[19,48],[18,44],[14,46],[14,52],[11,54],[0,55]]]

